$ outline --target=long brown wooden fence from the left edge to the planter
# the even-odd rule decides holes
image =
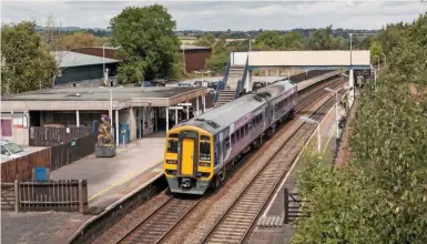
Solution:
[[[1,182],[31,181],[34,167],[54,171],[94,152],[96,133],[62,143],[1,164]]]

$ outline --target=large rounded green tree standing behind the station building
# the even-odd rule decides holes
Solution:
[[[110,24],[111,43],[121,47],[118,55],[124,60],[118,70],[123,82],[172,77],[180,40],[174,34],[176,23],[164,7],[126,7]]]

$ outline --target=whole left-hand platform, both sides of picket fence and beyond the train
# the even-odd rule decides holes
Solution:
[[[298,90],[323,79],[302,81]],[[109,209],[145,183],[162,176],[164,138],[165,132],[156,132],[124,148],[120,145],[116,155],[110,159],[90,155],[51,172],[51,179],[88,180],[89,207]],[[68,243],[93,217],[79,213],[2,211],[1,243]]]

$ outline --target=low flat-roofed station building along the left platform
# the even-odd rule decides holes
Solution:
[[[180,87],[55,88],[1,100],[1,136],[20,145],[29,145],[31,126],[92,126],[111,109],[119,144],[122,129],[133,141],[174,126],[182,119],[180,111],[189,113],[192,109],[197,115],[213,106],[213,96],[206,95],[205,88]]]

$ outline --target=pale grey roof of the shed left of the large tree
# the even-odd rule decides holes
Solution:
[[[84,67],[84,65],[93,65],[93,64],[102,64],[102,63],[119,63],[120,60],[116,59],[103,59],[98,55],[90,55],[80,52],[71,52],[71,51],[54,51],[54,59],[59,62],[61,68],[67,67]]]

